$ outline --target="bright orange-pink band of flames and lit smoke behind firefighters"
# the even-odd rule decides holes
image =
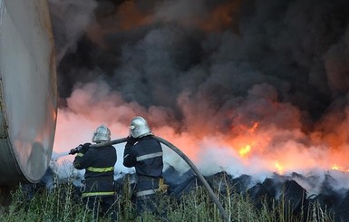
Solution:
[[[190,131],[178,131],[168,124],[173,121],[169,121],[166,111],[156,107],[147,111],[137,103],[122,101],[117,92],[110,92],[103,83],[91,83],[77,89],[67,101],[68,108],[58,112],[54,144],[57,153],[91,141],[93,130],[102,123],[111,128],[113,140],[127,137],[129,121],[133,116],[141,115],[153,125],[155,135],[177,146],[204,174],[221,170],[233,174],[347,170],[345,146],[334,150],[318,140],[312,144],[299,129],[278,129],[274,125],[263,126],[260,122],[253,122],[250,126],[235,125],[226,134],[215,130],[208,133],[208,129],[199,126],[191,127]],[[199,130],[199,133],[193,129]],[[203,131],[207,134],[203,135]],[[117,149],[121,161],[122,144]],[[174,153],[168,152],[167,155],[165,160],[168,164],[188,169],[188,166],[182,166],[184,162]],[[124,169],[121,167],[120,170]]]

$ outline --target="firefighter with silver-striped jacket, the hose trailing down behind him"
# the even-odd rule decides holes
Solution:
[[[157,194],[166,192],[162,178],[162,148],[153,137],[146,120],[136,116],[131,120],[130,135],[123,154],[123,165],[134,167],[137,175],[136,208],[138,214],[147,211],[163,216],[158,209]]]

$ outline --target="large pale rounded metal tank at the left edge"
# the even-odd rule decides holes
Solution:
[[[46,0],[0,0],[0,186],[37,182],[57,117],[53,31]]]

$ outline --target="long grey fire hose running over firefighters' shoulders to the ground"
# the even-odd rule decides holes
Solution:
[[[218,198],[216,197],[215,193],[213,192],[212,188],[209,187],[208,181],[201,175],[201,173],[199,172],[199,169],[193,164],[193,162],[181,150],[179,150],[177,147],[175,147],[169,141],[164,140],[160,137],[156,137],[156,136],[154,136],[154,138],[156,140],[158,140],[160,143],[168,146],[171,150],[175,151],[179,155],[180,158],[184,159],[188,163],[189,167],[196,173],[196,175],[199,178],[199,180],[201,181],[201,183],[208,190],[208,195],[210,196],[210,198],[212,198],[213,202],[217,205],[219,212],[221,214],[221,217],[223,217],[223,219],[226,222],[230,222],[230,219],[228,217],[227,212],[220,204],[220,202],[219,202]],[[118,143],[126,142],[126,141],[127,141],[127,138],[121,138],[118,140],[111,140],[108,142],[92,144],[92,145],[90,145],[90,147],[97,148],[97,147],[102,147],[102,146],[106,146],[106,145],[114,145],[114,144],[118,144]]]

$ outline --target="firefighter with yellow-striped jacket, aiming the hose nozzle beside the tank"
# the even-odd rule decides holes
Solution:
[[[101,125],[93,133],[92,142],[102,143],[110,140],[111,130],[105,125]],[[111,145],[98,148],[91,148],[90,145],[92,144],[81,144],[70,152],[77,153],[73,160],[73,167],[85,169],[82,200],[88,208],[93,210],[95,217],[108,215],[116,219],[113,205],[116,150]]]

